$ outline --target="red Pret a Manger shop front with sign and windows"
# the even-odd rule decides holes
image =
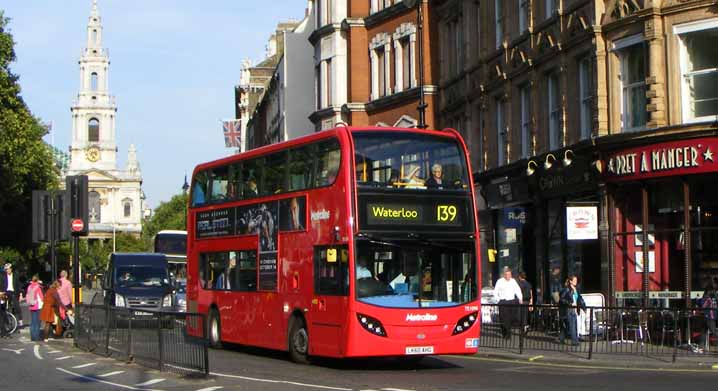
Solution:
[[[618,304],[690,306],[718,281],[717,151],[700,137],[605,155]]]

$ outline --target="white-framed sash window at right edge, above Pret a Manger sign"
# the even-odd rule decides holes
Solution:
[[[718,20],[676,26],[683,122],[718,119]]]

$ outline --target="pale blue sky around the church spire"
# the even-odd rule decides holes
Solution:
[[[234,117],[241,62],[257,63],[277,23],[306,0],[99,0],[109,90],[117,98],[118,168],[137,148],[151,208],[182,192],[198,163],[232,153],[221,120]],[[68,151],[92,0],[2,0],[22,97],[52,122],[47,142]]]

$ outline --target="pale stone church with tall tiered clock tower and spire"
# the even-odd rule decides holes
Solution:
[[[126,169],[118,168],[117,104],[109,92],[110,57],[102,47],[97,0],[92,1],[79,65],[80,92],[70,108],[72,142],[67,175],[88,176],[89,238],[110,239],[118,232],[139,236],[144,209],[142,173],[134,145],[128,150]]]

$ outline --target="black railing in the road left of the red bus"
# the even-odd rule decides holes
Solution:
[[[81,304],[75,345],[85,351],[182,375],[209,375],[204,315]]]

